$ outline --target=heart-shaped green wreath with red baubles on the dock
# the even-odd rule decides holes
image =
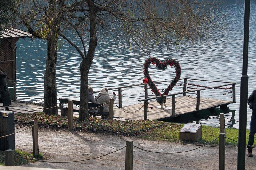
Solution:
[[[175,68],[175,72],[176,72],[176,76],[175,78],[170,82],[170,84],[168,85],[168,87],[164,90],[164,93],[161,94],[160,91],[158,90],[158,88],[156,87],[155,83],[152,81],[149,72],[148,72],[148,67],[150,65],[150,63],[152,63],[153,65],[156,65],[156,67],[158,68],[158,70],[165,70],[167,68],[168,65],[170,65],[171,67],[174,66]],[[175,86],[175,84],[179,81],[180,79],[180,74],[181,74],[181,67],[178,61],[174,60],[174,59],[169,59],[167,58],[166,61],[164,61],[163,63],[161,63],[160,60],[158,60],[156,57],[150,57],[148,60],[145,61],[144,63],[144,77],[145,80],[143,79],[143,82],[146,84],[149,84],[150,89],[152,90],[152,92],[155,94],[155,96],[162,96],[162,95],[167,95],[169,93],[170,90],[173,89],[173,87]],[[160,97],[157,99],[157,102],[162,105],[163,103],[166,102],[166,97]]]

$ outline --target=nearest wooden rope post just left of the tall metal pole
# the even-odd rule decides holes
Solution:
[[[219,136],[219,170],[225,169],[225,134]]]

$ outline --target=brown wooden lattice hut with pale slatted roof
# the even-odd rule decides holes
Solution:
[[[0,35],[0,70],[8,75],[7,85],[13,87],[13,100],[16,100],[16,42],[19,38],[31,37],[28,32],[10,28]]]

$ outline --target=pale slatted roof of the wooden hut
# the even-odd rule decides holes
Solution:
[[[0,35],[0,39],[1,38],[25,38],[25,37],[31,37],[32,35],[28,32],[22,31],[20,29],[17,28],[9,28],[9,29],[5,29],[2,32],[2,35]]]

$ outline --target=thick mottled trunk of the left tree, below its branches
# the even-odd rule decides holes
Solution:
[[[58,39],[48,39],[46,70],[44,74],[44,110],[49,115],[58,115],[57,87],[56,87],[56,63],[57,63]],[[54,107],[54,108],[51,108]],[[46,109],[51,108],[51,109]]]

